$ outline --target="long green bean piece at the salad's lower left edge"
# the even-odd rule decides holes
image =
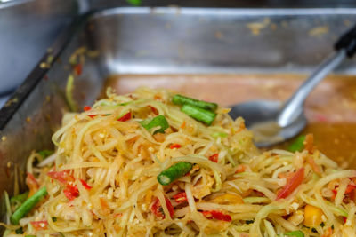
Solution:
[[[45,187],[40,188],[35,194],[28,198],[20,208],[16,209],[15,212],[10,217],[11,223],[13,225],[19,225],[19,220],[25,217],[28,212],[33,209],[36,204],[41,201],[45,195],[47,195],[47,190]]]

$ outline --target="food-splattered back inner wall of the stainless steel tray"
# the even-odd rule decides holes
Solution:
[[[308,73],[356,21],[355,12],[113,9],[97,14],[93,34],[110,73]],[[354,62],[340,71],[354,73]]]

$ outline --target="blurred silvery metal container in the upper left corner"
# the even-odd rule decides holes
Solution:
[[[28,76],[79,13],[77,0],[18,0],[0,4],[0,95]]]

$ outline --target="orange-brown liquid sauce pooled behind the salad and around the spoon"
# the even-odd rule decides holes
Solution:
[[[137,87],[166,88],[223,106],[252,99],[286,100],[306,75],[112,75],[106,86],[125,94]],[[356,168],[356,76],[329,75],[305,103],[316,146],[342,166]],[[288,143],[280,145],[286,147]],[[280,147],[279,146],[279,147]]]

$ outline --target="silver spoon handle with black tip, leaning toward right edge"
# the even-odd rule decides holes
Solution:
[[[336,52],[325,59],[315,72],[298,88],[284,104],[277,117],[280,127],[287,127],[303,113],[305,99],[314,87],[320,83],[329,72],[334,70],[347,56],[351,58],[356,52],[356,25],[341,36],[335,44]]]

